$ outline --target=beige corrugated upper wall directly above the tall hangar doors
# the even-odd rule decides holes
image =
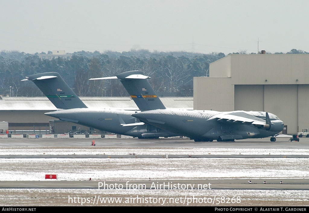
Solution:
[[[309,54],[231,55],[232,84],[308,84],[308,67]]]

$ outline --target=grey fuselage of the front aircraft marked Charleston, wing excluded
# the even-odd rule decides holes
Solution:
[[[158,128],[202,141],[228,141],[245,138],[265,138],[278,134],[283,130],[283,122],[269,113],[270,126],[250,124],[250,122],[232,122],[222,120],[220,115],[237,114],[255,116],[257,120],[265,118],[265,112],[217,112],[210,110],[170,110],[157,109],[132,114],[139,120]]]

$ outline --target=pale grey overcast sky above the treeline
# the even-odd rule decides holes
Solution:
[[[307,0],[0,0],[0,50],[309,52],[308,14]]]

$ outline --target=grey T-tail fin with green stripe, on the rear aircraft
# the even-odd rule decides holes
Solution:
[[[58,109],[87,108],[57,72],[29,75],[24,80],[35,83]]]

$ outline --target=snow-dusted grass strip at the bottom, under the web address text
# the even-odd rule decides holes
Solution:
[[[16,194],[18,194],[18,196],[16,196]],[[176,201],[173,198],[182,198],[182,203],[179,202],[179,199],[176,203],[177,206],[196,206],[198,204],[221,206],[218,205],[217,202],[221,202],[222,198],[225,199],[224,202],[229,201],[229,203],[224,203],[224,206],[229,206],[232,202],[234,202],[236,206],[250,206],[250,204],[258,206],[257,204],[261,205],[261,203],[262,206],[268,206],[278,205],[278,202],[280,202],[281,206],[290,206],[293,204],[297,206],[300,206],[300,204],[307,206],[309,201],[308,197],[308,190],[0,189],[0,200],[2,203],[6,205],[15,204],[14,206],[16,206],[16,203],[22,206],[68,206],[74,204],[74,198],[76,198],[75,202],[79,201],[75,203],[77,206],[82,206],[81,198],[84,199],[84,206],[99,206],[112,203],[110,201],[108,202],[106,198],[116,198],[113,199],[114,205],[129,201],[129,205],[132,206],[149,205],[150,202],[161,206],[173,205]],[[79,198],[79,200],[77,200],[77,198]],[[135,198],[135,200],[133,201],[132,198]],[[139,198],[138,204],[136,198]],[[194,203],[193,198],[195,198]]]

